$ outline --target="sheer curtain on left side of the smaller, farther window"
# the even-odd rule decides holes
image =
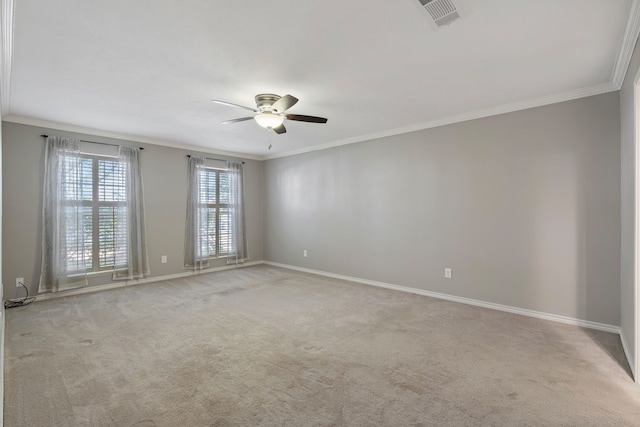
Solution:
[[[189,157],[189,177],[187,187],[187,220],[184,240],[184,267],[202,270],[209,267],[208,210],[202,203],[200,190],[204,187],[200,182],[205,168],[204,157]]]

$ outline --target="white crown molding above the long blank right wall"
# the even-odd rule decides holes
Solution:
[[[381,132],[368,133],[365,135],[354,136],[351,138],[345,138],[338,141],[328,142],[326,144],[315,145],[313,147],[301,148],[299,150],[291,150],[282,153],[268,154],[264,156],[264,160],[276,159],[279,157],[295,156],[298,154],[304,154],[311,151],[325,150],[327,148],[339,147],[341,145],[355,144],[357,142],[370,141],[378,138],[385,138],[389,136],[401,135],[403,133],[416,132],[425,129],[431,129],[440,126],[451,125],[460,122],[466,122],[469,120],[481,119],[489,116],[496,116],[499,114],[512,113],[515,111],[526,110],[529,108],[542,107],[549,104],[557,104],[559,102],[571,101],[578,98],[585,98],[588,96],[600,95],[603,93],[614,92],[619,90],[612,83],[602,83],[599,85],[589,86],[586,88],[571,90],[567,92],[561,92],[554,95],[543,96],[540,98],[529,99],[521,102],[514,102],[510,104],[504,104],[498,107],[487,108],[484,110],[473,111],[469,113],[459,114],[455,116],[444,117],[441,119],[431,120],[428,122],[417,123],[410,126],[404,126],[394,129],[388,129]]]

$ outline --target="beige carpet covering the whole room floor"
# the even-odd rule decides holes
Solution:
[[[267,266],[7,311],[5,426],[640,426],[617,335]]]

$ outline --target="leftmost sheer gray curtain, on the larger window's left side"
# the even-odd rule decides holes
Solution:
[[[87,284],[88,254],[83,207],[83,183],[91,177],[82,173],[78,141],[50,136],[44,163],[42,203],[42,266],[40,292]],[[87,183],[84,183],[87,184]],[[90,217],[90,216],[89,216]]]

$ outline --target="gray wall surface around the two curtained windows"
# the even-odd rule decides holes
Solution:
[[[40,277],[41,212],[44,140],[41,134],[144,147],[141,167],[145,190],[147,244],[151,276],[182,273],[186,215],[187,154],[194,151],[119,141],[5,122],[2,124],[2,272],[5,298],[17,293],[15,278],[24,277],[30,292]],[[220,157],[209,155],[209,157]],[[252,260],[263,259],[263,163],[245,160],[246,220]],[[168,262],[162,264],[161,256]],[[224,265],[218,260],[216,265]],[[90,284],[110,283],[110,275],[90,278]],[[20,290],[18,290],[20,291]]]

